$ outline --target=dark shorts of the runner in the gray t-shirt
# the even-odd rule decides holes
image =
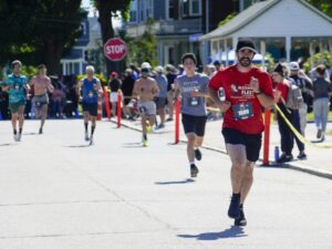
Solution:
[[[195,133],[197,136],[204,136],[207,116],[193,116],[183,114],[183,125],[185,134]]]

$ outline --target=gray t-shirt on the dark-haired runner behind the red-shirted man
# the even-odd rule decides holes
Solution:
[[[207,93],[209,83],[208,76],[195,73],[193,77],[180,75],[175,79],[176,87],[181,90],[181,113],[193,116],[206,116],[205,97],[193,97],[190,92],[197,90],[200,93]]]

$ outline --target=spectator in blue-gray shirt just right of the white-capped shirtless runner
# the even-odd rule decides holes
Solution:
[[[166,116],[166,102],[167,102],[167,77],[164,74],[164,69],[162,65],[158,65],[155,69],[156,76],[155,80],[157,82],[158,89],[159,89],[159,95],[156,97],[156,106],[157,106],[157,113],[160,116],[160,124],[158,125],[157,128],[164,128],[165,127],[165,116]]]

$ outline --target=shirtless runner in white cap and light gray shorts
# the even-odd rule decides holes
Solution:
[[[138,110],[142,117],[144,147],[148,146],[146,121],[148,118],[149,126],[154,126],[156,120],[156,104],[154,98],[159,94],[159,89],[156,81],[148,76],[149,71],[149,63],[144,62],[142,64],[142,77],[135,82],[133,91],[133,98],[138,101]]]

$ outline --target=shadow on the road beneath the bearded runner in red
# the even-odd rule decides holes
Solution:
[[[228,238],[241,238],[247,237],[243,228],[231,226],[225,231],[219,232],[205,232],[199,235],[178,235],[177,237],[185,239],[197,239],[197,240],[218,240],[218,239],[228,239]]]

